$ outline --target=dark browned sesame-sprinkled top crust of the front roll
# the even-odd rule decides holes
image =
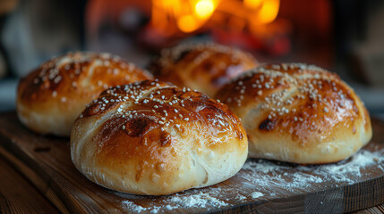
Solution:
[[[114,110],[116,106],[119,107]],[[100,136],[104,139],[114,135],[113,132],[124,131],[128,136],[141,136],[150,129],[157,130],[154,136],[159,136],[159,143],[165,145],[169,140],[162,133],[165,127],[175,124],[177,128],[188,129],[188,124],[193,124],[192,121],[199,122],[211,132],[225,133],[233,130],[239,140],[243,138],[240,120],[225,104],[200,92],[166,82],[144,80],[107,89],[90,103],[80,118],[102,116],[108,111],[117,112],[113,121],[110,121],[114,125],[102,133],[105,136]],[[115,129],[116,127],[121,127],[122,130]],[[212,145],[220,144],[211,140]]]

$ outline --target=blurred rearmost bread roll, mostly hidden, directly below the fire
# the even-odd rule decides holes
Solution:
[[[160,80],[197,89],[212,97],[230,79],[256,65],[250,53],[232,47],[188,44],[164,49],[149,64],[149,71]]]

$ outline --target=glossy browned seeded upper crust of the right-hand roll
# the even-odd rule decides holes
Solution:
[[[360,98],[336,74],[317,66],[263,65],[224,86],[217,98],[255,132],[250,136],[288,135],[292,139],[286,142],[311,147],[353,136],[362,126],[364,143],[371,138],[371,119]]]

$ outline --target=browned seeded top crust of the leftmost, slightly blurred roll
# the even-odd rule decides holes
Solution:
[[[124,62],[118,56],[76,52],[43,63],[21,79],[18,91],[21,102],[59,99],[65,103],[74,97],[92,100],[109,86],[147,78],[151,78],[148,72]],[[92,95],[95,92],[97,95]]]

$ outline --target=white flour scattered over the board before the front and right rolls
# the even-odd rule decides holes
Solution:
[[[132,202],[132,200],[140,200],[145,196],[115,194],[125,198],[122,206],[130,213],[142,211],[163,213],[172,212],[175,209],[183,211],[189,208],[210,210],[230,206],[234,199],[235,204],[238,204],[239,202],[254,202],[260,200],[260,197],[267,199],[281,197],[303,191],[303,189],[320,191],[339,185],[354,184],[369,178],[370,175],[363,173],[362,169],[373,166],[376,169],[375,173],[384,172],[384,150],[376,152],[362,150],[346,161],[326,165],[300,166],[276,161],[249,160],[235,176],[238,182],[231,183],[228,188],[214,185],[192,189],[164,196],[161,203],[152,202],[149,207],[142,207]]]

